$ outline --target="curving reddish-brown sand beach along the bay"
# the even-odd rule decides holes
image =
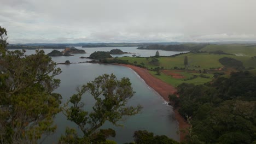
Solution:
[[[176,93],[177,90],[175,87],[169,85],[168,83],[161,81],[160,79],[152,76],[148,73],[148,70],[136,67],[134,65],[129,64],[117,64],[122,65],[124,67],[131,68],[134,70],[146,83],[149,87],[153,88],[156,92],[158,92],[164,100],[169,101],[168,95]],[[185,122],[184,118],[179,114],[178,109],[173,109],[176,120],[179,125],[179,141],[183,141],[185,139],[185,133],[182,130],[188,128],[188,123]]]

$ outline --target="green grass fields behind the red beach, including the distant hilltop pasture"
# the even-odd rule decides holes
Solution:
[[[150,69],[154,69],[156,67],[164,67],[164,69],[174,69],[177,68],[185,68],[189,70],[209,70],[212,68],[222,68],[224,67],[221,63],[219,63],[219,59],[223,57],[230,57],[237,59],[243,63],[246,69],[248,68],[256,68],[256,58],[252,58],[256,56],[256,46],[248,46],[248,45],[207,45],[202,49],[202,51],[217,51],[222,50],[225,53],[231,54],[241,54],[240,56],[236,55],[214,55],[209,53],[185,53],[183,55],[178,55],[176,57],[159,57],[159,64],[153,65],[150,64],[152,58],[145,58],[145,57],[120,57],[118,59],[122,59],[128,61],[129,63],[134,64],[144,64],[144,67]],[[184,57],[188,57],[189,65],[187,67],[184,66]],[[251,73],[256,75],[256,69],[250,70]],[[188,79],[189,77],[193,77],[193,75],[200,75],[199,73],[189,73],[189,71],[184,70],[184,72],[175,72],[185,76],[184,79],[174,79],[172,76],[168,76],[164,73],[161,75],[155,75],[155,71],[149,71],[150,74],[158,77],[162,81],[170,83],[173,86],[178,86],[179,84],[186,82],[186,83],[194,83],[195,85],[203,84],[205,82],[209,82],[212,80],[213,74],[205,74],[210,76],[210,79],[197,77],[196,79],[184,81],[184,79]],[[211,72],[210,72],[211,73]]]

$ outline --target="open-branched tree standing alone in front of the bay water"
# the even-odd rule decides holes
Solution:
[[[66,135],[61,136],[59,143],[104,142],[108,136],[114,136],[111,130],[109,130],[111,133],[103,133],[106,130],[98,131],[104,122],[109,121],[120,126],[117,122],[121,118],[135,115],[142,109],[140,105],[126,106],[135,92],[130,80],[125,77],[117,80],[113,74],[104,74],[78,88],[77,91],[78,93],[74,94],[63,107],[63,113],[69,121],[78,125],[84,135],[79,137],[75,130],[68,128]],[[81,101],[85,92],[90,93],[96,101],[90,112],[84,110],[84,104]]]

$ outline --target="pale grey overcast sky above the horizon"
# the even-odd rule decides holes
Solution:
[[[0,0],[10,44],[256,41],[255,0]]]

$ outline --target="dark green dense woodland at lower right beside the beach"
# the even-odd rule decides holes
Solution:
[[[255,82],[256,77],[245,71],[232,73],[229,79],[219,77],[205,85],[179,85],[179,112],[184,117],[193,117],[189,142],[255,141]]]

